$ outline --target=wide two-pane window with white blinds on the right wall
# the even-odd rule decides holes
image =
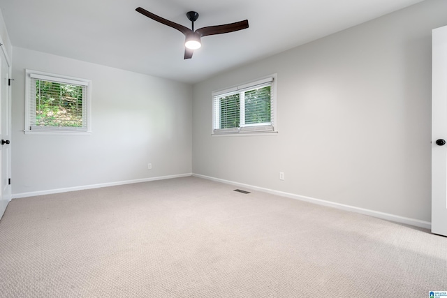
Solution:
[[[213,134],[275,132],[275,78],[214,91]]]

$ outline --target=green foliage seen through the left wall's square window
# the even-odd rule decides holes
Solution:
[[[82,127],[83,87],[36,80],[36,126]]]

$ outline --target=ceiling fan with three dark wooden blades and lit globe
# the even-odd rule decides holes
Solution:
[[[138,13],[141,13],[142,15],[145,15],[154,21],[160,22],[161,24],[165,24],[169,27],[173,27],[174,29],[177,29],[178,31],[184,33],[184,59],[191,59],[193,57],[194,50],[197,50],[199,47],[202,46],[200,38],[202,38],[203,36],[229,33],[247,29],[249,27],[249,21],[243,20],[231,24],[203,27],[194,31],[194,22],[196,22],[196,20],[198,19],[198,13],[196,13],[195,11],[189,11],[188,13],[186,13],[186,17],[188,17],[188,19],[192,22],[192,29],[189,29],[182,26],[181,24],[171,22],[169,20],[163,19],[163,17],[159,17],[158,15],[149,13],[149,11],[145,10],[144,8],[138,7],[135,10],[138,11]]]

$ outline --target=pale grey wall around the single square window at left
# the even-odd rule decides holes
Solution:
[[[191,173],[189,84],[18,47],[13,54],[13,196]],[[93,133],[25,135],[25,68],[92,80]]]

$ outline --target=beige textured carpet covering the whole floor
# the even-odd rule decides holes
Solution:
[[[428,297],[447,238],[195,177],[10,202],[1,297]]]

